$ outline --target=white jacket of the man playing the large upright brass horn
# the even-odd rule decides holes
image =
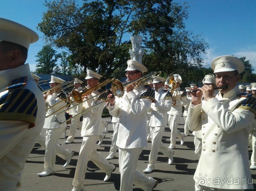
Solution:
[[[169,90],[170,91],[170,90]],[[167,112],[169,115],[180,115],[182,113],[182,106],[187,104],[187,96],[186,92],[181,91],[181,88],[176,88],[176,91],[174,92],[173,98],[176,96],[176,104],[171,107],[171,110]]]

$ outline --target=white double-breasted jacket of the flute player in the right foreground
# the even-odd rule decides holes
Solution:
[[[202,152],[194,174],[198,184],[204,179],[208,187],[253,189],[248,136],[255,119],[255,98],[240,97],[240,93],[235,87],[194,108],[192,102],[189,106],[188,127],[202,130]]]

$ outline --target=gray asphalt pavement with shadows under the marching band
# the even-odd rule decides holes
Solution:
[[[104,131],[106,138],[103,140],[102,145],[96,146],[97,151],[101,152],[104,157],[108,156],[109,148],[111,145],[113,134],[112,123],[110,118],[102,118],[108,122],[108,130]],[[178,129],[184,132],[184,119],[181,117]],[[67,130],[67,135],[68,135]],[[54,175],[39,177],[36,174],[43,172],[44,166],[44,150],[36,143],[29,158],[26,161],[23,175],[21,178],[20,191],[68,191],[72,190],[72,182],[75,174],[75,167],[80,151],[82,137],[80,137],[80,130],[76,132],[77,137],[74,143],[64,144],[66,140],[64,135],[59,140],[59,144],[67,149],[75,152],[75,156],[71,159],[70,164],[64,168],[66,163],[62,158],[56,157],[56,173]],[[168,126],[165,128],[165,132],[162,138],[163,143],[167,146],[170,144],[170,129]],[[177,139],[176,149],[174,153],[174,162],[168,165],[168,158],[159,152],[157,164],[155,170],[152,173],[146,174],[155,178],[159,184],[154,189],[155,191],[193,191],[194,179],[193,175],[198,163],[198,158],[194,154],[194,136],[190,134],[185,138],[184,145],[180,145],[180,140]],[[143,171],[147,168],[148,156],[150,153],[151,142],[148,143],[140,155],[137,170]],[[251,150],[249,149],[249,158],[251,156]],[[109,160],[110,163],[115,164],[116,170],[112,173],[108,182],[104,182],[105,173],[102,172],[93,162],[89,161],[87,172],[84,179],[84,190],[86,191],[109,191],[119,190],[120,187],[120,173],[118,166],[118,157]],[[232,162],[232,161],[230,161]],[[249,163],[250,161],[248,161]],[[211,164],[209,164],[211,165]],[[252,177],[254,179],[254,190],[256,190],[256,170],[251,170]],[[140,188],[134,186],[134,191],[142,191]]]

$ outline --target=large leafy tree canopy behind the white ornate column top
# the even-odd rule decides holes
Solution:
[[[45,1],[48,7],[38,29],[57,48],[69,51],[69,64],[97,70],[103,77],[124,76],[131,43],[128,34],[142,35],[149,71],[183,75],[201,67],[207,43],[185,30],[187,4],[170,0]]]

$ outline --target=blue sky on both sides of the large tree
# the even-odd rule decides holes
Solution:
[[[79,0],[81,3],[82,1]],[[210,65],[218,56],[245,56],[256,73],[256,1],[255,0],[174,0],[187,2],[189,15],[186,30],[200,34],[209,44],[203,65]],[[27,63],[36,68],[35,55],[44,45],[43,33],[36,30],[47,11],[44,0],[0,0],[0,17],[16,21],[36,31],[39,41],[30,45]],[[129,35],[127,39],[129,40]]]

